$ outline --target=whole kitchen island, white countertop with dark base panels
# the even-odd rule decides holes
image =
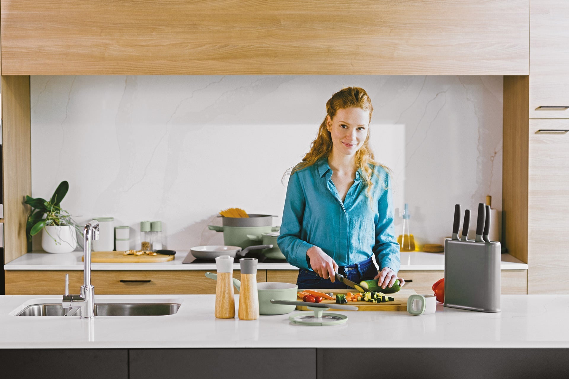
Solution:
[[[341,311],[347,323],[328,327],[291,324],[289,315],[216,319],[215,295],[96,295],[96,302],[151,300],[180,307],[166,316],[24,317],[15,314],[26,305],[58,303],[61,297],[0,296],[2,366],[20,362],[31,370],[45,356],[47,361],[60,357],[93,364],[105,357],[107,367],[117,365],[114,374],[122,367],[130,378],[160,372],[222,377],[224,367],[232,378],[366,377],[387,366],[408,377],[569,373],[569,295],[502,295],[500,313],[440,303],[436,313],[421,316]]]

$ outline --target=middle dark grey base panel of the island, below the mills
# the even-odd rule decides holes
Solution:
[[[130,349],[129,366],[130,379],[316,379],[316,349]]]

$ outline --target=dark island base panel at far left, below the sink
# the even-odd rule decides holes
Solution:
[[[128,379],[127,349],[0,349],[0,378]]]

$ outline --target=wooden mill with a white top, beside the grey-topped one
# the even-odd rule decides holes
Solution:
[[[222,255],[215,259],[215,264],[217,269],[215,316],[216,318],[234,318],[233,258],[229,255]]]

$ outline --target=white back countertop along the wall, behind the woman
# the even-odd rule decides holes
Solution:
[[[183,264],[188,251],[176,252],[172,261],[161,263],[93,263],[93,270],[215,270],[215,263]],[[83,252],[65,254],[31,252],[4,265],[5,270],[83,270]],[[527,270],[527,264],[509,254],[501,255],[502,270]],[[238,264],[233,265],[239,269]],[[259,263],[259,270],[298,270],[288,263]],[[444,270],[444,253],[401,252],[399,270]]]

